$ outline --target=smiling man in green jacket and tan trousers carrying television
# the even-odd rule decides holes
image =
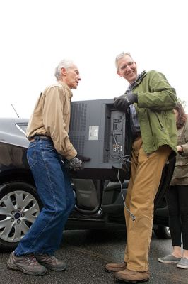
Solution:
[[[124,282],[149,279],[148,251],[153,226],[153,204],[163,167],[177,149],[173,108],[177,97],[165,76],[154,70],[137,74],[129,53],[116,58],[117,74],[129,82],[114,106],[130,115],[131,178],[125,200],[127,245],[123,263],[108,263],[105,271]],[[129,111],[128,111],[129,110]],[[131,212],[131,214],[130,214]]]

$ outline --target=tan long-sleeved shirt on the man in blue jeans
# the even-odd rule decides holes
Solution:
[[[77,154],[68,135],[72,95],[71,89],[61,81],[47,87],[35,104],[26,132],[27,138],[50,136],[54,148],[68,160]]]

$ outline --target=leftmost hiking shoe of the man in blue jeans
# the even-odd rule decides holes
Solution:
[[[30,275],[45,275],[47,271],[47,268],[45,268],[45,266],[41,266],[32,253],[25,254],[23,256],[15,256],[13,252],[8,259],[7,264],[9,268],[22,271],[23,273]]]

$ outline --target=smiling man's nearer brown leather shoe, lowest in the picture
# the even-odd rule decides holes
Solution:
[[[124,271],[114,273],[114,278],[129,283],[146,282],[149,280],[149,272],[125,269]]]

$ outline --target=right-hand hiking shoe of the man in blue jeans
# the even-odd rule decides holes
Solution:
[[[45,266],[46,268],[51,269],[52,271],[65,271],[66,263],[64,261],[59,261],[55,256],[50,256],[49,254],[36,254],[37,261]]]

